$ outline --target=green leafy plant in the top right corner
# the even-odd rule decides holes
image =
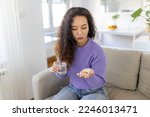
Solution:
[[[146,0],[148,3],[142,8],[138,8],[136,11],[134,11],[131,14],[131,17],[133,18],[132,21],[135,21],[138,17],[142,17],[146,20],[146,31],[150,32],[150,0]]]

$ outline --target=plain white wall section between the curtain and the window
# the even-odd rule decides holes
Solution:
[[[18,6],[27,78],[25,85],[27,85],[27,99],[31,99],[32,76],[47,67],[41,0],[18,0]]]

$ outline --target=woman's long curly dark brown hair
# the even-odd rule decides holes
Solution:
[[[75,16],[85,16],[89,25],[88,37],[94,39],[96,28],[91,13],[82,7],[70,8],[61,23],[58,30],[58,41],[55,46],[55,53],[61,61],[65,61],[68,66],[73,62],[76,50],[76,42],[72,34],[72,22]]]

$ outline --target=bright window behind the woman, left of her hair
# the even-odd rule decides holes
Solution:
[[[68,0],[42,0],[44,34],[55,37],[55,32],[68,9]]]

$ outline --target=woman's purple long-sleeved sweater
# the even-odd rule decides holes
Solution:
[[[78,77],[77,73],[84,68],[93,69],[95,75],[90,78]],[[105,68],[106,61],[102,48],[92,39],[89,39],[84,46],[77,47],[74,61],[67,74],[65,76],[57,74],[57,77],[65,78],[69,76],[70,84],[78,89],[96,89],[102,87],[105,83]]]

